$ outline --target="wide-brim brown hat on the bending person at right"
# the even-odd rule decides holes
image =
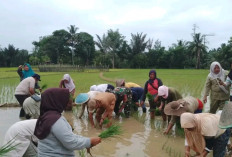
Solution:
[[[172,101],[165,105],[164,113],[166,115],[180,116],[187,111],[187,103],[184,100]]]

